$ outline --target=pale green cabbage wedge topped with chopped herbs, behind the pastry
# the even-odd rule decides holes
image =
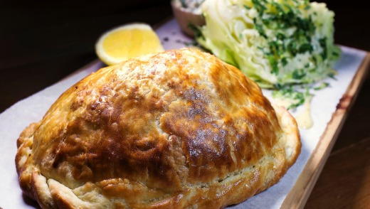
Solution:
[[[333,75],[334,12],[304,0],[206,0],[196,41],[261,87]]]

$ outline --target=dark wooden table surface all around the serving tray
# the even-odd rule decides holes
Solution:
[[[366,1],[325,2],[336,14],[335,41],[370,51]],[[95,60],[95,41],[107,29],[133,21],[154,25],[168,16],[169,0],[1,1],[0,112]],[[305,208],[369,205],[369,92],[368,74]]]

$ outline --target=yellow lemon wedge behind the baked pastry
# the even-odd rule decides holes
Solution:
[[[97,56],[107,65],[163,51],[157,33],[146,23],[129,23],[107,31],[95,45]]]

